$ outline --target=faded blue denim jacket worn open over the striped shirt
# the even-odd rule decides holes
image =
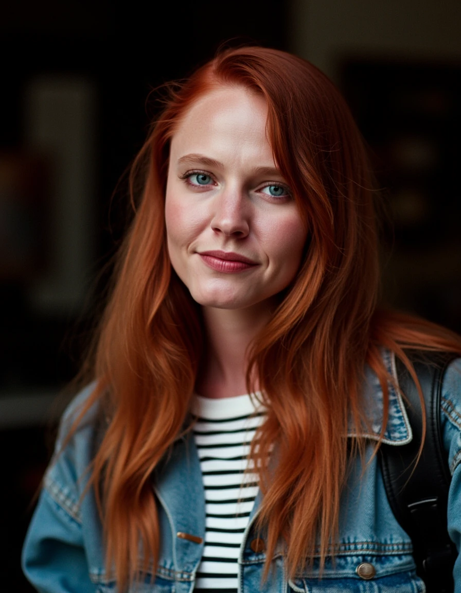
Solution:
[[[390,353],[386,365],[395,375]],[[366,439],[365,466],[357,460],[341,498],[340,548],[334,561],[327,558],[322,578],[318,563],[288,579],[283,562],[283,544],[271,559],[271,572],[262,581],[265,538],[255,532],[255,518],[261,496],[255,500],[239,555],[239,592],[291,593],[417,593],[425,586],[415,573],[412,544],[390,510],[373,444],[381,431],[382,390],[368,369],[365,398],[372,431]],[[384,441],[395,447],[412,438],[401,396],[390,388],[389,418]],[[91,386],[73,401],[61,423],[57,448],[68,431],[75,410],[91,393]],[[450,487],[449,534],[457,550],[461,534],[461,359],[446,372],[441,400],[441,426],[449,454]],[[23,569],[42,593],[116,593],[113,578],[104,569],[104,549],[100,518],[94,495],[85,488],[87,470],[101,429],[97,413],[90,410],[63,452],[47,470],[44,487],[31,521],[23,550]],[[148,574],[137,586],[139,593],[191,593],[200,563],[205,533],[204,491],[199,458],[192,436],[175,442],[172,454],[152,476],[159,522],[161,549],[155,575]],[[80,500],[81,499],[81,500]],[[198,536],[196,541],[177,537],[178,533]],[[253,544],[253,545],[252,545]],[[256,550],[256,551],[254,551]],[[454,566],[454,590],[461,593],[461,560]],[[130,589],[128,593],[134,592]],[[124,592],[125,593],[125,592]]]

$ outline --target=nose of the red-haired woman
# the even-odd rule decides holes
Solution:
[[[244,238],[249,233],[250,212],[244,192],[226,190],[216,196],[211,227],[227,237]]]

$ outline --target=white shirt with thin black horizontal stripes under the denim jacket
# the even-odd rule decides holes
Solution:
[[[192,411],[198,417],[194,438],[206,512],[205,545],[194,591],[236,593],[240,546],[258,492],[258,475],[244,471],[264,415],[255,415],[248,395],[216,400],[194,396]]]

